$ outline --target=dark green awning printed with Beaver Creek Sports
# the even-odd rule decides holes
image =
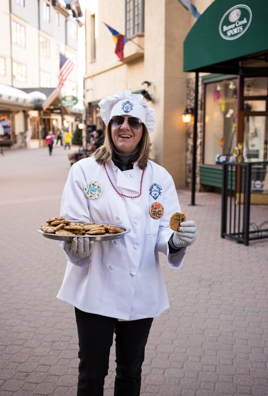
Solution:
[[[215,0],[183,51],[183,71],[268,75],[268,0]]]

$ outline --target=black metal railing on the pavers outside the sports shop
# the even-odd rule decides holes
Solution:
[[[246,246],[249,245],[250,240],[268,238],[268,208],[262,210],[259,225],[251,220],[252,212],[258,214],[256,205],[262,205],[262,203],[252,205],[252,194],[262,194],[265,197],[263,193],[267,166],[268,162],[223,163],[222,238],[229,237]],[[261,175],[260,180],[256,181],[256,176],[253,178],[254,173]],[[268,200],[268,196],[266,197]],[[266,213],[265,218],[264,213]]]

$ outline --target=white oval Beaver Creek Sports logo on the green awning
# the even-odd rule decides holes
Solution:
[[[249,28],[252,11],[245,4],[237,4],[223,15],[219,32],[224,40],[235,40],[242,36]]]

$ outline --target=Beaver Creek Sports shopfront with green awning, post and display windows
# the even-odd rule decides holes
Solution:
[[[206,75],[202,78],[203,82],[206,77],[211,79],[213,75],[215,77],[214,81],[224,81],[226,76],[231,76],[227,78],[233,79],[236,77],[237,79],[237,87],[232,89],[232,97],[227,95],[226,98],[221,98],[220,90],[218,91],[217,88],[214,91],[211,106],[207,106],[207,98],[205,97],[204,108],[209,108],[210,114],[208,116],[207,113],[204,114],[202,129],[204,132],[204,154],[210,159],[210,163],[203,162],[206,158],[202,158],[199,163],[200,184],[204,184],[204,186],[218,187],[218,182],[222,181],[222,165],[218,162],[216,164],[212,162],[215,158],[215,152],[211,153],[211,148],[214,151],[219,150],[219,148],[230,149],[241,162],[245,161],[245,163],[267,161],[267,19],[267,0],[244,0],[243,4],[237,4],[235,0],[215,0],[198,18],[184,40],[183,70],[185,72],[195,72],[193,169],[195,169],[196,161],[197,121],[201,121],[198,118],[198,112],[199,110],[203,111],[202,97],[199,96],[198,92],[199,73],[210,73],[210,76]],[[222,88],[221,92],[223,93],[223,87],[220,88]],[[228,86],[228,90],[230,88]],[[234,98],[237,98],[236,107],[234,107]],[[212,111],[211,108],[212,106],[215,108],[215,103],[219,107],[217,112]],[[224,112],[225,104],[229,106],[229,110],[232,110],[231,113],[224,113],[225,119],[224,123],[222,122],[224,126],[226,125],[228,134],[225,133],[225,130],[217,129],[220,125],[219,122],[215,125],[216,121],[221,120],[221,113]],[[226,121],[228,117],[233,119],[232,125],[229,125],[228,120]],[[209,125],[211,120],[214,122],[212,128]],[[204,128],[209,130],[214,138],[213,141],[207,137]],[[200,139],[202,140],[201,137]],[[231,144],[228,142],[231,142]],[[234,142],[236,146],[232,147]],[[226,152],[228,157],[232,152]],[[266,171],[263,173],[257,171],[256,168],[253,188],[256,189],[257,186],[257,188],[266,191],[266,175],[264,174]],[[217,176],[215,182],[211,181],[210,176],[208,177],[212,173]],[[202,178],[204,183],[202,183]],[[192,204],[194,204],[195,176],[192,179]],[[210,184],[207,183],[208,179]]]

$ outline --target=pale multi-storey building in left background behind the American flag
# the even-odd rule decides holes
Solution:
[[[79,1],[3,0],[0,15],[1,144],[40,147],[49,130],[74,130],[83,112],[61,104],[67,95],[83,99],[78,70],[83,12]],[[60,53],[74,67],[58,89]]]

